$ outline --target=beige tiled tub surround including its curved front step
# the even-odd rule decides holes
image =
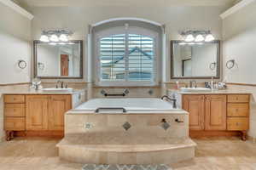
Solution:
[[[163,127],[163,119],[170,127]],[[182,122],[175,122],[178,119]],[[130,128],[125,129],[129,123]],[[152,164],[195,156],[186,111],[169,114],[85,114],[67,112],[61,159],[80,163]]]

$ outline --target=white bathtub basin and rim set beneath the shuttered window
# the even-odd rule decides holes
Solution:
[[[182,111],[173,108],[172,101],[158,98],[90,99],[73,111],[96,113],[171,113]]]

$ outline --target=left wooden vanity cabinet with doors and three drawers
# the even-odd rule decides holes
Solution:
[[[84,92],[4,94],[6,140],[17,136],[63,136],[64,114],[84,102]]]

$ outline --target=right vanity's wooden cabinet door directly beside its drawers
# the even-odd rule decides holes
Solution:
[[[226,130],[226,95],[206,95],[206,130]]]

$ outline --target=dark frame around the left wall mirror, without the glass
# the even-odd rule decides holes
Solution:
[[[39,40],[34,40],[33,41],[33,67],[34,67],[34,78],[41,78],[41,79],[83,79],[84,77],[84,68],[83,68],[83,60],[84,60],[84,52],[83,52],[83,40],[71,40],[70,42],[74,43],[80,43],[80,75],[79,77],[40,77],[38,76],[38,51],[37,47],[39,43],[47,43],[47,42],[41,42]]]

